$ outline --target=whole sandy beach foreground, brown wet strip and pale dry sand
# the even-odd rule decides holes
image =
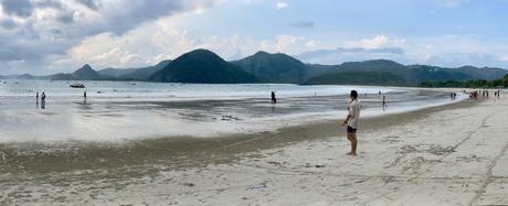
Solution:
[[[60,153],[2,144],[0,204],[507,205],[507,102],[363,119],[356,158],[338,120]]]

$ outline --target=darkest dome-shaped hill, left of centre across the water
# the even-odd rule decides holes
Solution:
[[[149,78],[163,83],[235,84],[254,83],[254,75],[225,62],[208,50],[194,50],[170,62]]]

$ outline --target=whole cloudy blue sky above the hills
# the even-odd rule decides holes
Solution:
[[[195,48],[305,63],[508,68],[508,0],[0,0],[0,75],[155,65]]]

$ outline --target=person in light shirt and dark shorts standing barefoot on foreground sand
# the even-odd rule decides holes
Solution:
[[[343,120],[342,126],[347,126],[347,138],[351,142],[351,151],[347,153],[348,155],[357,155],[357,129],[358,120],[360,119],[360,102],[358,101],[358,91],[351,90],[349,95],[351,101],[348,107],[348,116]]]

